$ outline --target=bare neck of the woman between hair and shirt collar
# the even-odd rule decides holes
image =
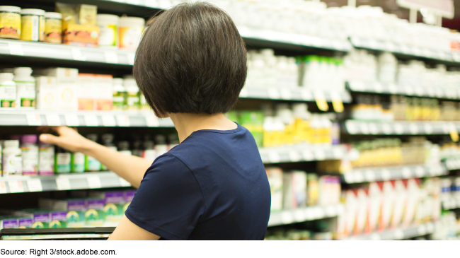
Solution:
[[[174,127],[179,134],[179,141],[183,142],[187,139],[190,134],[194,131],[203,129],[212,130],[233,130],[238,126],[231,122],[222,113],[217,114],[188,114],[188,113],[173,113],[170,114],[171,120],[173,120]]]

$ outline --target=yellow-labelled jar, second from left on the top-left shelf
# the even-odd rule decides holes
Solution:
[[[45,11],[40,9],[22,9],[21,28],[21,40],[45,40]]]

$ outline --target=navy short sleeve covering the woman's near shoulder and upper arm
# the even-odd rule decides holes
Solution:
[[[203,212],[195,176],[182,161],[166,153],[147,170],[125,215],[161,238],[186,240]]]

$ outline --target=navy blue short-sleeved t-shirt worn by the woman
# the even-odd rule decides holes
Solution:
[[[167,240],[263,240],[270,186],[252,134],[193,132],[156,158],[125,215]]]

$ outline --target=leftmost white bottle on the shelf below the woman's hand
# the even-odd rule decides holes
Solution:
[[[18,140],[4,141],[4,148],[1,151],[3,176],[22,175],[23,158]]]

